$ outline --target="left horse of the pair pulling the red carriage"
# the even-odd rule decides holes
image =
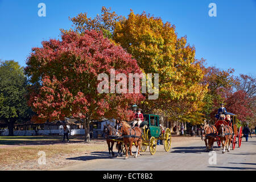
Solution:
[[[217,135],[217,129],[213,125],[206,124],[203,127],[201,127],[201,139],[204,140],[206,150],[207,151],[213,151],[213,143],[214,139]]]

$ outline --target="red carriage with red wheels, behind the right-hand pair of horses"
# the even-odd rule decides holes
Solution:
[[[214,126],[216,127],[216,129],[219,131],[220,130],[220,126],[224,125],[224,126],[230,126],[233,129],[233,137],[232,137],[232,148],[234,150],[234,148],[236,147],[236,143],[237,143],[237,139],[238,138],[238,147],[241,147],[241,143],[242,143],[242,126],[238,125],[238,120],[237,120],[237,115],[233,114],[233,113],[226,113],[226,116],[230,116],[229,117],[224,117],[221,119],[218,119],[218,121],[216,123],[214,123]],[[238,129],[239,127],[239,129]],[[220,142],[220,138],[216,137],[216,139],[214,140],[214,142],[217,142],[218,146],[221,146],[221,142]]]

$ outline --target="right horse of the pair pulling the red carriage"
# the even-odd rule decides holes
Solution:
[[[232,137],[233,137],[233,129],[229,125],[221,124],[219,134],[220,134],[219,137],[220,137],[220,140],[221,140],[221,144],[222,144],[222,147],[223,147],[222,154],[224,154],[225,153],[225,147],[228,150],[228,152],[230,151],[230,143],[231,143],[231,140],[232,140]],[[229,142],[229,147],[226,146],[226,144],[228,142]]]

